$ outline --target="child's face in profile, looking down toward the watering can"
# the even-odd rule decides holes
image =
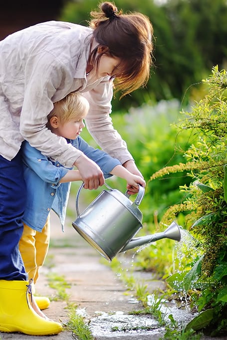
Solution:
[[[52,129],[52,132],[64,138],[76,139],[84,126],[83,117],[79,120],[72,119],[65,123],[61,123],[58,120],[57,127]]]

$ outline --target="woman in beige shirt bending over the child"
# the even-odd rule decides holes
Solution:
[[[131,173],[142,177],[109,114],[113,80],[125,95],[149,78],[152,25],[143,14],[118,13],[110,2],[102,3],[91,15],[90,27],[50,21],[0,41],[1,332],[48,335],[62,329],[26,298],[31,289],[18,250],[26,195],[22,141],[65,167],[75,166],[85,189],[104,184],[96,163],[45,127],[53,103],[71,92],[82,93],[90,104],[86,124],[94,139]],[[135,192],[129,185],[127,189]]]

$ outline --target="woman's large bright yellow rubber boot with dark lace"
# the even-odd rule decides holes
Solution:
[[[28,281],[0,280],[0,332],[20,332],[34,336],[58,334],[58,322],[40,317],[33,310]]]

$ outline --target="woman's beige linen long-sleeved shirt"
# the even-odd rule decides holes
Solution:
[[[81,92],[90,103],[86,125],[99,146],[121,163],[133,159],[113,128],[109,77],[89,84],[86,66],[92,30],[48,21],[0,41],[0,154],[11,160],[26,139],[43,155],[71,167],[81,155],[45,125],[53,103]]]

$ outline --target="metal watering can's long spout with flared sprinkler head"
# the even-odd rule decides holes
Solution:
[[[163,232],[157,232],[153,235],[141,236],[132,238],[125,246],[120,250],[120,252],[133,249],[136,247],[140,247],[144,244],[149,244],[155,241],[158,241],[162,238],[170,238],[175,241],[180,241],[181,239],[181,231],[180,227],[176,222],[172,222],[171,225]]]

